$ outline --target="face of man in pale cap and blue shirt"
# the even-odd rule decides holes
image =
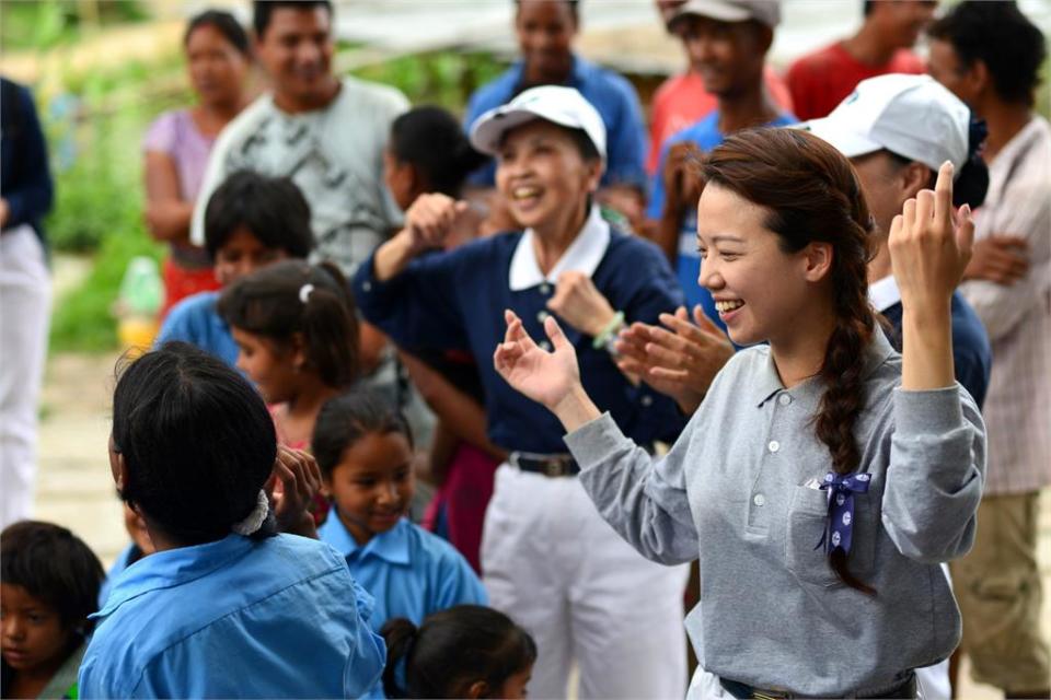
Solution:
[[[769,30],[755,22],[719,22],[695,14],[672,27],[686,47],[691,69],[713,95],[731,96],[761,84]]]

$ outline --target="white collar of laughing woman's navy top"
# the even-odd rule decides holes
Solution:
[[[592,206],[580,233],[577,234],[577,237],[573,240],[573,243],[569,244],[569,247],[566,248],[566,252],[562,254],[562,257],[558,258],[558,261],[545,277],[540,271],[536,253],[533,250],[533,230],[526,229],[522,237],[518,240],[513,256],[511,256],[508,283],[512,292],[520,292],[536,287],[544,281],[555,284],[558,281],[558,276],[567,271],[584,272],[591,277],[609,247],[610,224],[602,219],[598,206]]]

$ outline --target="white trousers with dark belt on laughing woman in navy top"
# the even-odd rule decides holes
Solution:
[[[575,478],[507,464],[485,516],[489,604],[536,641],[531,698],[682,698],[689,568],[644,559],[598,514]]]

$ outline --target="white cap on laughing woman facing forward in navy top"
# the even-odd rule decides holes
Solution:
[[[471,125],[471,145],[496,155],[509,130],[533,119],[544,119],[569,129],[581,129],[605,160],[605,125],[598,110],[573,88],[531,88],[506,105],[489,109]]]

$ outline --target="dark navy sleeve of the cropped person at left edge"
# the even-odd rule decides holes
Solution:
[[[21,139],[14,143],[16,152],[8,156],[13,159],[10,163],[14,166],[14,176],[3,184],[3,198],[8,201],[8,222],[4,228],[36,224],[50,210],[54,199],[47,144],[33,96],[21,86],[18,94]]]

